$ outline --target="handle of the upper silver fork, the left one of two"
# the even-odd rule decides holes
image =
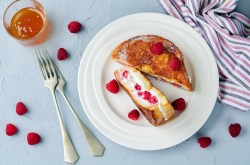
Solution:
[[[62,120],[61,113],[59,111],[56,96],[55,96],[55,90],[51,90],[51,93],[52,93],[53,100],[54,100],[54,103],[56,106],[56,112],[57,112],[57,116],[59,118],[59,123],[60,123],[60,128],[61,128],[61,133],[62,133],[64,161],[71,163],[71,164],[74,164],[78,159],[78,155],[77,155],[76,150],[75,150],[75,148],[74,148],[74,146],[69,138],[67,130],[63,124],[63,120]]]

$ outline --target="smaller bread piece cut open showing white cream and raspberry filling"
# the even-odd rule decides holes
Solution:
[[[139,70],[124,67],[116,70],[114,75],[152,125],[158,126],[173,116],[174,109],[167,98],[161,91],[153,87]]]

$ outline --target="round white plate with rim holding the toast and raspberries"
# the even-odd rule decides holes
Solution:
[[[185,111],[159,127],[143,115],[128,119],[136,106],[122,89],[111,94],[105,85],[122,65],[111,60],[111,52],[121,42],[137,35],[154,34],[173,41],[182,51],[194,90],[188,92],[151,79],[172,102],[187,101]],[[78,91],[84,111],[94,126],[112,141],[139,150],[174,146],[198,131],[211,114],[218,92],[218,70],[204,39],[190,26],[173,17],[140,13],[120,18],[104,27],[86,48],[78,72]]]

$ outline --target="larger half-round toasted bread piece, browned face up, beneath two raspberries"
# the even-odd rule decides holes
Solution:
[[[155,55],[150,51],[150,46],[158,42],[164,45],[164,52],[161,55]],[[174,57],[180,60],[181,67],[178,70],[173,70],[170,66]],[[175,86],[192,90],[181,51],[165,38],[155,35],[131,38],[113,51],[112,59]]]

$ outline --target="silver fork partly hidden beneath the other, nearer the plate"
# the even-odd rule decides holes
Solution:
[[[72,105],[70,104],[69,100],[67,99],[67,97],[66,97],[66,95],[64,93],[65,80],[64,80],[62,74],[60,73],[60,71],[58,70],[58,68],[56,67],[56,65],[54,65],[54,68],[56,70],[57,78],[58,78],[58,84],[56,86],[56,90],[61,93],[61,95],[65,99],[66,103],[68,104],[71,112],[73,113],[74,117],[76,118],[78,124],[80,125],[80,127],[81,127],[87,141],[88,141],[88,145],[89,145],[89,148],[91,150],[92,155],[93,156],[102,156],[103,152],[105,150],[104,146],[89,131],[89,129],[84,125],[84,123],[81,121],[81,119],[79,118],[79,116],[77,115],[75,110],[73,109]]]

